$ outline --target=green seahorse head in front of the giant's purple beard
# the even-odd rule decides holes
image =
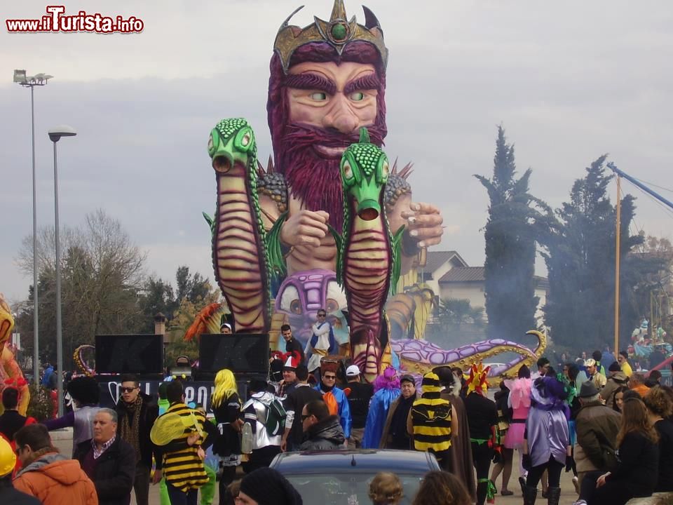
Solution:
[[[344,192],[357,205],[360,219],[372,221],[381,214],[379,203],[383,184],[388,181],[388,156],[369,142],[367,128],[360,128],[360,141],[351,144],[341,156],[341,182]]]

